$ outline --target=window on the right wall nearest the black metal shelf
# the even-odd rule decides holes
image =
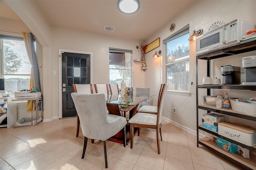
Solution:
[[[164,40],[168,90],[189,91],[189,26]]]

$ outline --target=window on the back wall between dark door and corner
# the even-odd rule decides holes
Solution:
[[[126,82],[132,87],[132,51],[122,49],[109,49],[109,83],[118,84]]]

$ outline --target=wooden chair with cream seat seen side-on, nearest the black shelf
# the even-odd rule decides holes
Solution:
[[[134,127],[146,127],[150,129],[156,129],[156,141],[157,141],[157,150],[158,154],[160,154],[160,141],[159,141],[159,133],[162,141],[162,133],[161,133],[161,125],[162,125],[162,107],[163,100],[167,90],[167,84],[162,84],[160,88],[160,96],[158,98],[158,107],[157,113],[136,113],[128,122],[130,123],[130,147],[133,147],[133,134]]]

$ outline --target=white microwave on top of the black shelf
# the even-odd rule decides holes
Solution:
[[[240,43],[247,31],[255,29],[255,25],[248,21],[236,19],[213,29],[196,39],[196,54],[201,55],[217,49],[226,48],[230,45]]]

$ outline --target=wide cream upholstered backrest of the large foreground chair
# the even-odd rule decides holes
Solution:
[[[71,93],[78,113],[82,133],[90,139],[109,138],[104,129],[108,123],[104,94]]]

